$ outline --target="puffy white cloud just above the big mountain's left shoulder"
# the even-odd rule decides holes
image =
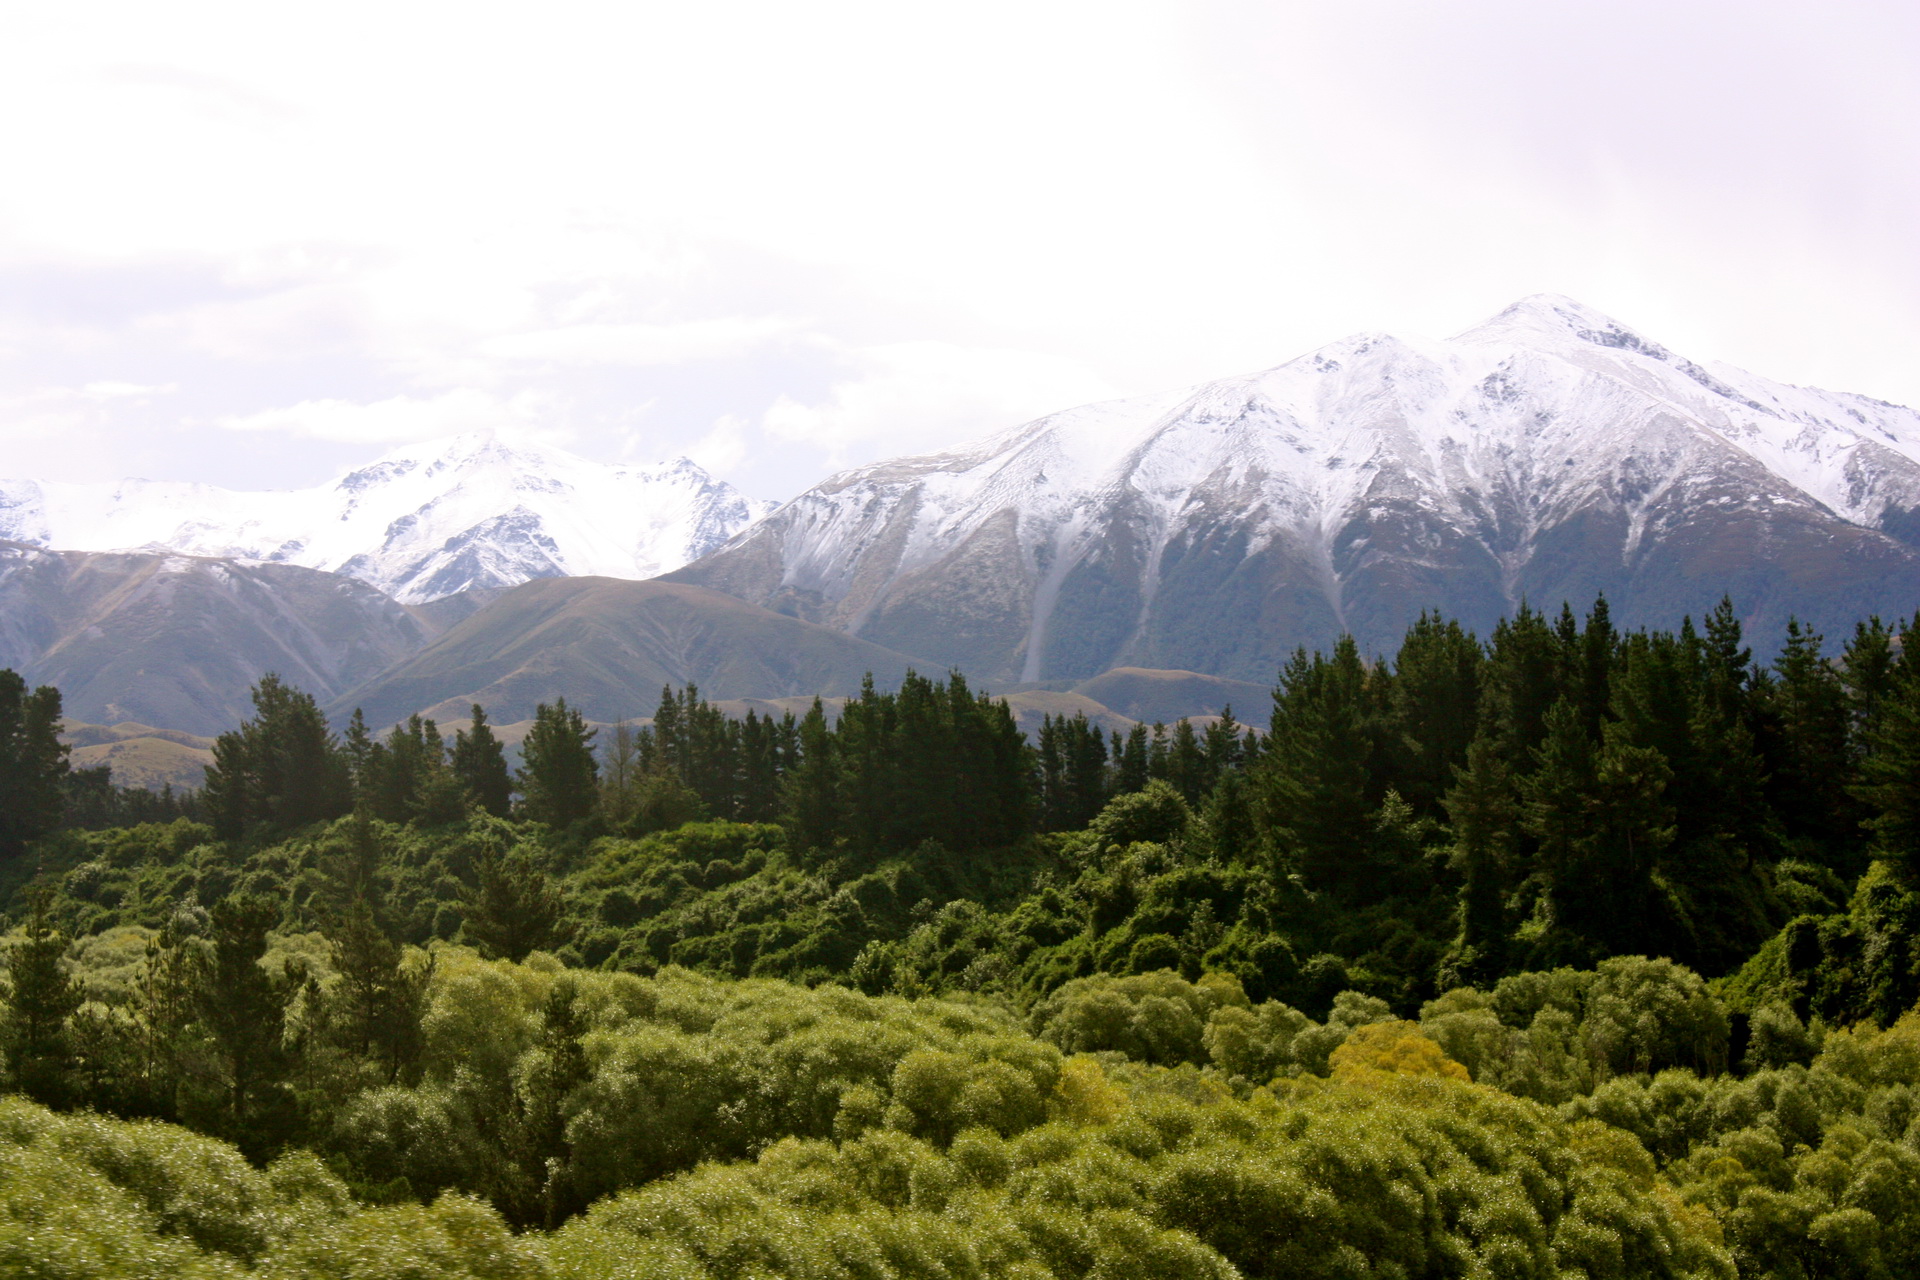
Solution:
[[[839,464],[852,455],[941,449],[1043,415],[1112,399],[1092,370],[1035,351],[897,342],[851,353],[860,367],[814,405],[781,395],[770,436],[814,445]]]

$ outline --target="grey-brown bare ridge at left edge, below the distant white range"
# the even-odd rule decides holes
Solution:
[[[267,672],[324,700],[430,635],[340,574],[0,541],[0,668],[58,685],[83,722],[223,733],[252,714]]]

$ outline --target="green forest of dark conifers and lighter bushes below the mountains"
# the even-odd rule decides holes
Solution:
[[[1920,626],[1423,616],[1261,727],[67,768],[0,672],[0,1270],[1920,1274]]]

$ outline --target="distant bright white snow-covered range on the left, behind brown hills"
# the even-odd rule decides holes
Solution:
[[[687,459],[607,466],[492,432],[396,449],[288,493],[0,480],[6,539],[338,570],[407,604],[532,578],[653,578],[770,509]]]

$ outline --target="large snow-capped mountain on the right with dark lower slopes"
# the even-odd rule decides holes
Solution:
[[[1697,365],[1565,297],[841,472],[668,574],[977,679],[1271,681],[1605,593],[1834,633],[1920,603],[1920,415]],[[1252,708],[1246,708],[1252,710]]]

